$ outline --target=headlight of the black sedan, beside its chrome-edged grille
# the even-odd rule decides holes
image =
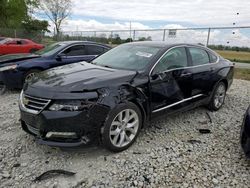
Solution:
[[[71,101],[56,101],[49,107],[51,111],[82,111],[89,109],[93,103],[81,101],[81,100],[71,100]]]

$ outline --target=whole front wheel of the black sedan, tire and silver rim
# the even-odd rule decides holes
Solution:
[[[140,109],[133,103],[118,105],[109,114],[102,131],[102,143],[113,152],[129,148],[142,127]]]

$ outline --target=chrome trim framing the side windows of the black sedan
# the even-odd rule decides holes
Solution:
[[[169,48],[169,49],[168,49],[168,50],[167,50],[167,51],[157,60],[157,62],[154,64],[154,66],[150,69],[149,76],[152,75],[152,72],[153,72],[155,66],[160,62],[160,60],[161,60],[170,50],[175,49],[175,48],[181,48],[181,47],[184,47],[184,48],[189,48],[189,47],[192,47],[192,48],[200,48],[200,49],[205,50],[205,51],[208,51],[208,50],[209,50],[209,51],[213,52],[213,51],[210,50],[210,49],[207,50],[206,48],[199,47],[199,46],[179,45],[179,46],[171,47],[171,48]],[[214,63],[206,63],[206,64],[203,64],[203,65],[195,65],[195,66],[189,66],[189,67],[181,67],[181,68],[169,69],[169,70],[166,70],[166,71],[164,71],[164,72],[162,72],[162,73],[167,73],[167,72],[170,72],[170,71],[173,71],[173,70],[190,69],[190,68],[202,67],[202,66],[207,66],[207,65],[214,65],[214,64],[219,63],[219,60],[220,60],[220,59],[219,59],[218,55],[215,54],[215,53],[213,53],[213,54],[216,55],[216,57],[217,57],[217,61],[214,62]],[[209,54],[208,54],[208,56],[209,56]]]

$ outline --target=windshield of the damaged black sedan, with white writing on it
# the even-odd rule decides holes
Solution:
[[[152,46],[125,44],[106,52],[92,63],[116,69],[142,70],[159,50]]]

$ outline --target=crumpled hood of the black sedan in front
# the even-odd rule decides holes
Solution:
[[[31,90],[43,90],[43,93],[93,91],[130,82],[135,75],[136,71],[111,69],[87,62],[74,63],[42,72],[28,84],[26,93],[32,95]]]

